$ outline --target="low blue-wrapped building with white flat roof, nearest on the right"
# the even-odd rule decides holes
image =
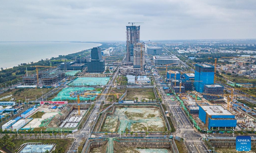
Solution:
[[[198,117],[208,129],[230,130],[236,128],[235,115],[222,106],[199,106]]]

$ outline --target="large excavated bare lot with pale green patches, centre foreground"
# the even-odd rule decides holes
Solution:
[[[159,108],[116,108],[114,114],[108,114],[101,132],[120,132],[124,130],[162,132],[165,129],[164,120]]]

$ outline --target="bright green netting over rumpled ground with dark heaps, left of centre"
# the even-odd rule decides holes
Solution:
[[[58,95],[52,99],[52,101],[69,101],[69,100],[74,100],[76,101],[76,97],[70,97],[70,93],[72,92],[76,92],[76,91],[85,91],[85,90],[95,90],[95,88],[85,88],[85,87],[75,87],[75,88],[64,88],[62,89]],[[95,93],[100,93],[100,91],[96,91]],[[89,96],[86,95],[83,97],[80,97],[80,101],[89,101],[89,100],[94,100],[96,97],[95,96],[91,96],[91,98]]]

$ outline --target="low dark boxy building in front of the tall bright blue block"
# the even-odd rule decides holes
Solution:
[[[204,93],[209,94],[224,94],[224,87],[220,84],[211,84],[211,85],[204,85]],[[217,100],[223,99],[223,97],[218,96],[210,96],[210,95],[203,95],[203,97],[207,100]]]

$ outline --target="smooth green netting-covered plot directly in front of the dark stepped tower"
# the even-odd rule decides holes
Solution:
[[[81,86],[81,85],[106,85],[109,77],[78,77],[68,85]]]

